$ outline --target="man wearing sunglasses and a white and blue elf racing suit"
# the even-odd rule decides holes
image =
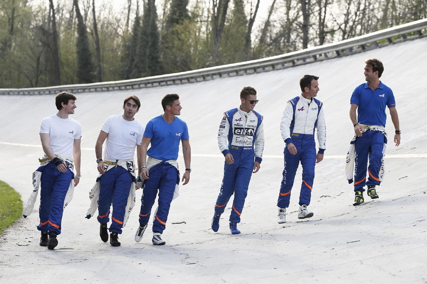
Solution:
[[[231,195],[234,200],[230,215],[230,231],[239,234],[237,223],[248,193],[252,173],[260,168],[264,151],[264,126],[262,116],[254,111],[258,103],[257,91],[244,87],[240,91],[240,107],[224,113],[218,131],[218,146],[224,154],[224,177],[215,204],[211,227],[217,232],[220,217]]]

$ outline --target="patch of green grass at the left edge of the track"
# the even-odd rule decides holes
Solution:
[[[21,195],[0,181],[0,234],[22,216]]]

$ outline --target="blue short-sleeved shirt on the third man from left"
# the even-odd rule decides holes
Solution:
[[[176,116],[171,123],[162,116],[151,119],[145,127],[144,136],[151,138],[147,155],[163,161],[178,159],[180,140],[190,138],[187,123]]]

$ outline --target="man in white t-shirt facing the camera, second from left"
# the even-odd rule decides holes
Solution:
[[[140,173],[140,153],[144,126],[135,120],[141,103],[137,96],[128,96],[123,103],[124,114],[107,118],[99,133],[95,153],[97,156],[99,182],[98,221],[100,237],[108,241],[107,223],[111,215],[110,244],[119,246],[118,234],[126,224],[130,210],[135,203],[135,146],[138,157],[138,174]],[[102,159],[102,145],[107,139]],[[131,198],[130,198],[131,197]],[[132,200],[133,199],[133,200]]]

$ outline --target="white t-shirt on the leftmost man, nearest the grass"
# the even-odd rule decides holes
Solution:
[[[81,138],[81,124],[72,118],[60,118],[56,114],[42,120],[39,133],[48,133],[50,148],[55,155],[73,157],[74,139]]]

